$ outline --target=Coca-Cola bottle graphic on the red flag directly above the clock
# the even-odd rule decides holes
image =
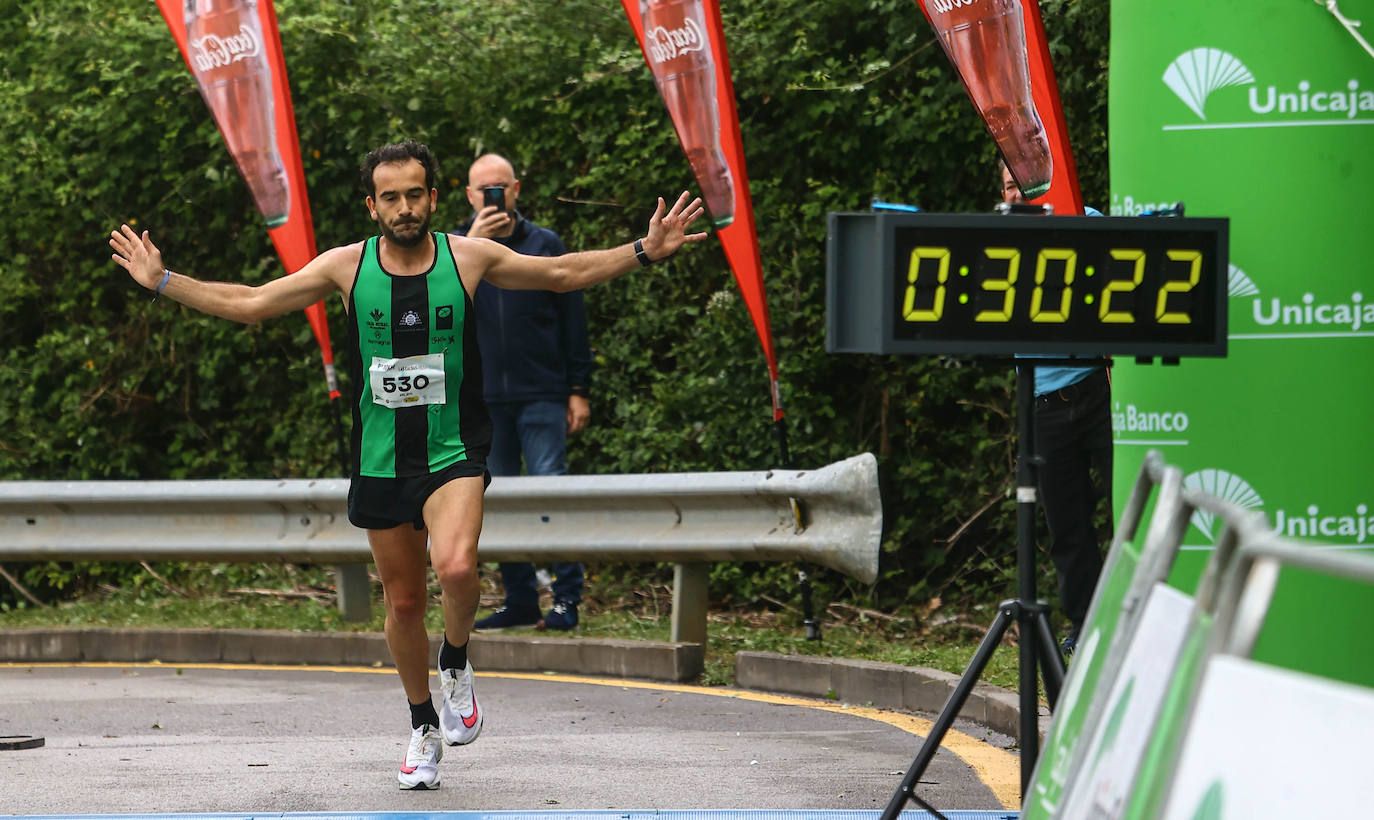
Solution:
[[[1054,163],[1030,96],[1021,0],[926,0],[926,11],[1021,194],[1043,196]]]

